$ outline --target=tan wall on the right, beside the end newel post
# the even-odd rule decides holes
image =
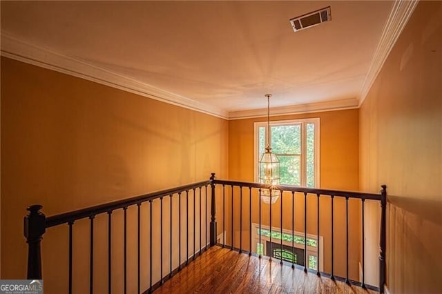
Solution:
[[[442,2],[421,1],[360,113],[361,189],[387,184],[389,195],[390,293],[442,291],[441,70]],[[378,231],[369,233],[376,254]]]

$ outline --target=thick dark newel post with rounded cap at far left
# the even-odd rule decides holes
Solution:
[[[41,205],[27,208],[29,214],[24,217],[24,235],[28,243],[28,280],[41,280],[40,242],[46,231],[46,216],[41,213]]]

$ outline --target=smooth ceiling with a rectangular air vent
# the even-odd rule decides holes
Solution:
[[[292,30],[289,19],[327,6],[332,21]],[[3,48],[19,40],[227,117],[265,108],[268,92],[272,108],[339,101],[357,107],[393,7],[392,1],[1,1],[2,55],[20,55]]]

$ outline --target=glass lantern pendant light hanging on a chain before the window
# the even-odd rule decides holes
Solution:
[[[274,189],[273,186],[280,184],[279,173],[279,159],[276,154],[271,153],[270,147],[270,97],[271,94],[266,94],[267,97],[267,146],[265,153],[262,154],[259,165],[258,179],[260,184],[271,185],[272,188],[261,190],[261,199],[265,204],[273,204],[278,200],[280,190]]]

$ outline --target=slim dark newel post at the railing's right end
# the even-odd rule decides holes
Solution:
[[[386,210],[387,210],[387,186],[382,185],[381,190],[381,237],[379,238],[379,293],[384,293],[384,286],[386,282],[386,268],[385,268],[385,247],[387,244],[387,230],[386,230]]]

